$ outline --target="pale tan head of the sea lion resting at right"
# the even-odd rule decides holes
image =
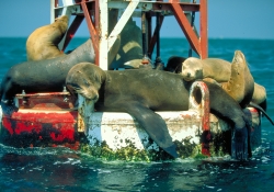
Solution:
[[[182,74],[185,81],[203,79],[202,60],[195,57],[185,59],[182,64]]]

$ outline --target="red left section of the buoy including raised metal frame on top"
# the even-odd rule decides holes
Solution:
[[[68,92],[18,94],[19,111],[2,117],[2,142],[15,147],[66,145],[77,149],[78,111]]]

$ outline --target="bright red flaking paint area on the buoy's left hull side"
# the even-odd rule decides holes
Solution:
[[[69,142],[75,140],[75,124],[77,112],[38,112],[31,110],[20,110],[12,113],[11,116],[3,115],[2,125],[5,127],[10,135],[20,135],[22,133],[27,134],[41,134],[43,131],[43,124],[52,124],[52,127],[57,129],[49,132],[54,142]],[[72,125],[72,126],[71,126]],[[42,135],[39,137],[43,137]]]

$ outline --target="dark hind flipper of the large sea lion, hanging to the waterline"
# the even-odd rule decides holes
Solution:
[[[248,128],[233,128],[231,136],[231,158],[246,160],[249,157]]]

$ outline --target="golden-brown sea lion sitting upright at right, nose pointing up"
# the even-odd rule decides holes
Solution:
[[[221,88],[231,95],[241,108],[247,108],[254,92],[254,79],[250,74],[244,55],[235,52],[231,64],[231,75],[228,82],[222,82]]]

